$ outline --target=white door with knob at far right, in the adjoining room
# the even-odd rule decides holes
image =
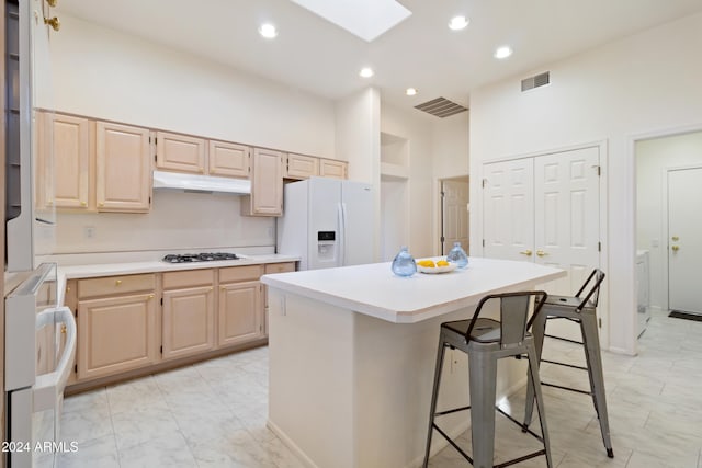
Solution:
[[[702,168],[668,171],[668,307],[702,313]]]

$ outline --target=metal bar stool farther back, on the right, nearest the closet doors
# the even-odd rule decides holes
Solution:
[[[610,458],[614,458],[614,452],[612,450],[612,441],[610,438],[610,423],[607,415],[607,400],[604,397],[604,376],[602,374],[600,336],[597,328],[597,304],[600,296],[600,285],[602,284],[603,279],[604,273],[602,273],[601,270],[596,269],[592,271],[592,273],[590,273],[590,276],[580,287],[580,290],[578,290],[575,297],[548,296],[541,315],[539,315],[539,317],[536,317],[533,321],[532,333],[534,335],[534,343],[536,346],[536,353],[539,355],[540,363],[551,363],[588,372],[588,377],[590,379],[590,391],[565,387],[556,384],[548,384],[545,381],[542,381],[542,385],[561,388],[563,390],[576,391],[592,397],[595,411],[600,421],[600,431],[602,432],[602,441],[604,442],[607,456]],[[592,284],[592,286],[590,287],[589,292],[585,297],[581,297],[581,294],[590,284]],[[579,323],[582,342],[546,334],[546,321],[555,319],[565,319]],[[559,363],[557,361],[542,359],[541,353],[544,346],[544,336],[581,344],[585,347],[586,367]],[[531,376],[529,377],[531,378]],[[526,411],[524,415],[524,426],[528,426],[531,423],[533,402],[534,391],[531,385],[529,385],[526,389]]]

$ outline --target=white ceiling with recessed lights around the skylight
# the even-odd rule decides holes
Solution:
[[[344,0],[328,0],[344,1]],[[353,0],[346,0],[353,1]],[[701,0],[399,0],[412,14],[367,43],[290,0],[58,0],[56,14],[182,49],[324,98],[370,84],[410,107],[438,96],[468,105],[471,90],[702,11]],[[449,30],[464,14],[467,28]],[[258,34],[261,22],[279,30]],[[497,46],[514,54],[497,60]],[[375,70],[359,77],[362,67]],[[525,75],[524,75],[525,77]],[[415,96],[405,90],[419,90]]]

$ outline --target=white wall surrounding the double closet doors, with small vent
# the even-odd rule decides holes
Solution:
[[[471,95],[471,173],[485,161],[607,141],[608,222],[604,259],[609,304],[602,305],[609,346],[636,352],[635,186],[636,135],[702,121],[702,14],[691,15]],[[520,80],[550,70],[552,83],[522,93]],[[482,194],[471,192],[471,243],[480,241]],[[609,312],[609,313],[608,313]]]

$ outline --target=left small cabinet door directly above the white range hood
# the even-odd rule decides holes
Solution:
[[[186,135],[156,133],[156,167],[178,172],[205,173],[205,140]]]

